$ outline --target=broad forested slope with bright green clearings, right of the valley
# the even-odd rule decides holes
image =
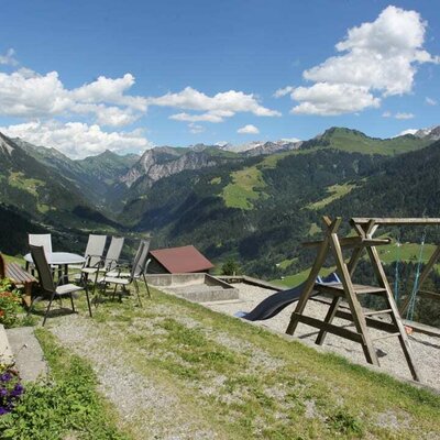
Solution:
[[[157,245],[194,243],[209,257],[275,276],[279,262],[302,253],[322,215],[440,217],[438,169],[439,143],[396,156],[309,148],[164,178],[124,215],[154,231]],[[228,206],[231,186],[250,205]],[[297,268],[308,263],[299,258]]]

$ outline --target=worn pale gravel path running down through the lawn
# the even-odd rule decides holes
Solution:
[[[92,321],[80,315],[54,319],[51,332],[74,353],[87,359],[97,374],[99,391],[114,405],[122,428],[136,439],[215,439],[216,433],[189,418],[174,389],[139,374],[127,355],[110,346]],[[201,427],[200,427],[201,425]]]

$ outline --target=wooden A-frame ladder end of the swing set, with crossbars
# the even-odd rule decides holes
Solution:
[[[373,345],[369,327],[386,331],[387,334],[377,339],[397,337],[404,351],[406,361],[414,380],[420,381],[420,374],[413,359],[411,349],[405,327],[402,322],[400,315],[396,302],[393,298],[393,293],[386,279],[384,268],[376,250],[376,245],[389,244],[389,239],[373,239],[378,224],[372,219],[365,223],[352,222],[353,228],[358,232],[358,237],[340,239],[338,229],[341,224],[341,218],[331,220],[328,217],[323,218],[324,238],[322,241],[306,243],[308,246],[318,248],[317,257],[310,270],[310,274],[305,283],[304,290],[298,300],[295,311],[292,314],[290,322],[286,333],[294,334],[299,322],[319,329],[319,334],[316,340],[317,344],[322,344],[328,332],[339,337],[359,342],[363,349],[365,359],[369,363],[380,366],[376,350]],[[342,253],[342,248],[352,248],[353,252],[350,262],[346,264]],[[352,275],[363,251],[367,252],[371,264],[373,266],[378,286],[356,285],[352,282]],[[317,284],[317,277],[326,261],[327,255],[331,253],[337,264],[337,273],[341,283],[329,285]],[[307,301],[315,292],[326,293],[333,296],[330,308],[323,320],[306,316],[304,314]],[[364,311],[358,296],[360,295],[380,295],[385,299],[386,308],[377,311]],[[350,314],[339,310],[341,300],[345,299]],[[374,319],[375,316],[387,315],[392,322],[380,321]],[[332,323],[336,317],[342,317],[353,321],[355,330],[349,330]]]

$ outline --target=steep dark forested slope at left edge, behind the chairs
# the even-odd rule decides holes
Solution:
[[[77,241],[80,229],[106,229],[117,224],[92,208],[85,195],[51,166],[28,154],[0,133],[0,250],[26,250],[28,233],[47,230],[69,234]],[[64,232],[62,232],[64,231]],[[68,232],[70,231],[70,232]]]

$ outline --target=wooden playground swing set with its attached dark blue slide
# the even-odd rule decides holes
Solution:
[[[294,334],[298,323],[300,322],[315,327],[319,330],[316,339],[316,343],[319,345],[324,342],[327,333],[337,334],[360,343],[366,361],[377,366],[380,366],[380,362],[374,348],[374,342],[380,339],[398,338],[413,378],[415,381],[420,381],[420,373],[416,366],[416,363],[414,362],[414,355],[405,328],[405,323],[408,323],[408,321],[404,322],[402,315],[407,311],[408,316],[413,318],[415,302],[418,295],[440,300],[440,294],[421,289],[429,273],[432,271],[436,262],[440,257],[440,244],[436,248],[428,263],[421,271],[422,251],[425,245],[424,233],[414,287],[410,295],[408,295],[405,298],[405,301],[403,301],[399,310],[376,249],[376,246],[391,244],[392,239],[374,238],[373,235],[381,226],[440,226],[440,219],[352,218],[350,223],[356,232],[356,235],[346,238],[340,238],[338,234],[338,230],[342,222],[341,218],[338,217],[334,220],[331,220],[329,217],[323,217],[322,220],[324,234],[323,240],[304,243],[306,246],[317,249],[317,256],[306,282],[288,290],[282,290],[271,295],[261,304],[258,304],[253,310],[249,312],[238,312],[237,316],[251,321],[271,319],[288,305],[297,301],[297,306],[292,314],[290,322],[287,327],[286,333]],[[343,250],[345,249],[352,250],[348,263],[345,263],[345,257],[343,255]],[[364,252],[367,253],[377,286],[359,285],[354,284],[352,280],[358,263]],[[330,276],[321,278],[319,273],[328,255],[333,256],[337,270],[336,273],[331,274]],[[398,263],[399,262],[397,261],[395,272],[396,278],[398,277]],[[396,286],[398,286],[398,279],[395,279],[395,287]],[[397,296],[398,292],[396,288],[395,293]],[[323,320],[305,315],[308,300],[319,294],[327,294],[332,297],[330,307]],[[385,302],[385,308],[381,310],[364,310],[359,298],[365,295],[382,297]],[[327,305],[329,304],[322,299],[314,299],[320,300]],[[342,300],[346,301],[348,307],[342,304]],[[380,316],[387,316],[388,320],[377,319]],[[355,329],[350,330],[345,327],[336,326],[333,320],[337,317],[352,321]],[[411,327],[416,327],[415,322],[410,321],[409,323]],[[417,323],[417,327],[419,331],[428,332],[422,328],[421,324]],[[370,334],[369,328],[381,330],[385,333],[373,339]],[[436,336],[440,334],[437,332]]]

